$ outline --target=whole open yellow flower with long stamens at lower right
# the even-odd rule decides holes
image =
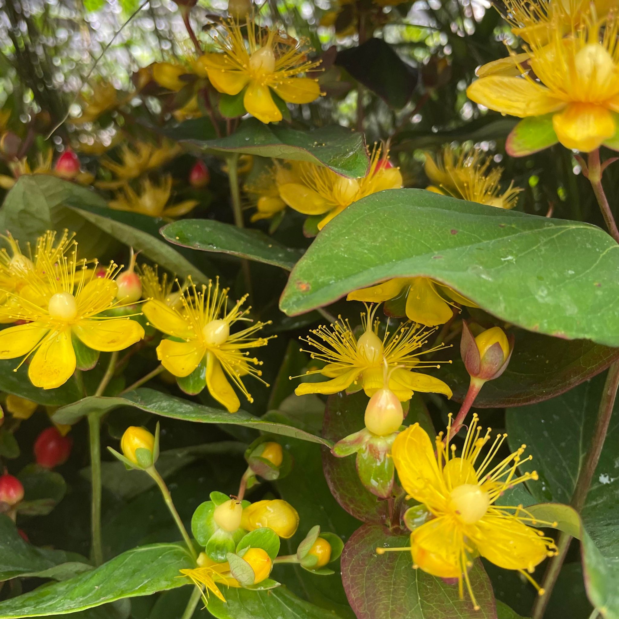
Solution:
[[[446,436],[450,430],[451,415]],[[537,473],[517,475],[517,467],[531,459],[521,459],[524,445],[495,464],[493,459],[507,436],[504,434],[496,436],[482,462],[477,462],[483,446],[490,441],[490,432],[488,428],[481,435],[482,428],[474,415],[460,457],[456,457],[456,448],[449,439],[443,440],[442,432],[433,445],[418,423],[397,436],[391,450],[397,474],[409,498],[422,504],[422,511],[420,506],[411,509],[425,517],[425,522],[412,526],[410,548],[376,548],[379,554],[410,550],[413,568],[439,578],[457,578],[461,597],[466,583],[475,608],[478,605],[468,574],[475,556],[481,555],[504,569],[516,569],[541,595],[543,589],[529,573],[556,551],[550,537],[528,526],[556,526],[556,522],[537,521],[522,505],[495,504],[508,488],[537,480]],[[404,519],[407,521],[406,516]]]

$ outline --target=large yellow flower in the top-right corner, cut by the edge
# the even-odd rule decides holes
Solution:
[[[568,149],[591,152],[615,135],[619,112],[618,17],[609,14],[571,27],[563,38],[557,19],[546,37],[529,42],[531,72],[490,75],[467,95],[503,114],[526,118],[552,114],[556,137]]]

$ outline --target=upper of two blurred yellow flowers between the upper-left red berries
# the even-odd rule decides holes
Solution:
[[[103,166],[108,168],[115,176],[116,181],[98,181],[97,187],[103,189],[115,189],[123,186],[127,181],[131,181],[141,176],[149,170],[162,167],[181,152],[178,144],[164,142],[161,146],[149,144],[149,142],[136,142],[129,146],[123,145],[119,154],[120,163],[107,158],[102,159]]]

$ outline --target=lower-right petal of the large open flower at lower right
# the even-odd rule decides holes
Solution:
[[[472,539],[480,555],[505,569],[532,569],[548,555],[546,542],[537,529],[514,518],[484,516]]]

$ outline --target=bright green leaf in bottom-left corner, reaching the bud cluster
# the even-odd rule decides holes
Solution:
[[[193,567],[188,551],[175,543],[128,550],[96,569],[0,602],[0,617],[45,617],[85,610],[136,595],[188,584],[180,569]]]

